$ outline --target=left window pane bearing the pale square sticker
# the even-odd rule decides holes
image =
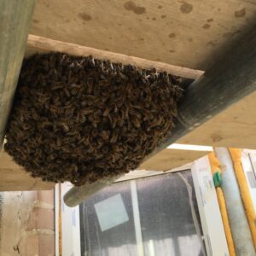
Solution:
[[[80,205],[81,249],[84,253],[82,255],[137,255],[130,187],[129,182],[114,183]],[[114,205],[112,201],[114,198],[119,198],[122,201],[125,212],[122,211],[124,209],[120,209],[122,207],[120,207],[119,200]],[[97,204],[106,200],[110,202],[106,215],[110,214],[109,222],[111,224],[105,224],[108,229],[102,230],[101,222],[104,222],[105,219],[99,220],[96,208]],[[117,216],[115,210],[123,216]],[[116,223],[113,222],[115,218],[119,218]]]

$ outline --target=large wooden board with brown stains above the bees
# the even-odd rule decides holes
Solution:
[[[253,19],[253,0],[38,0],[31,33],[205,70]]]

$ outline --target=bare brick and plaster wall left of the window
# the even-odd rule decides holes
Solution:
[[[54,190],[0,194],[0,255],[55,255]]]

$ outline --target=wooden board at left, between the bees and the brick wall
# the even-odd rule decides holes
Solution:
[[[9,154],[0,155],[0,166],[0,191],[48,190],[55,186],[55,183],[30,177],[28,172],[15,164]]]

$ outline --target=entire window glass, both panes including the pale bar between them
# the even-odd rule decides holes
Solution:
[[[96,193],[80,205],[82,255],[203,255],[188,186],[193,189],[193,181],[185,171],[113,183]],[[194,192],[192,201],[199,220]]]

